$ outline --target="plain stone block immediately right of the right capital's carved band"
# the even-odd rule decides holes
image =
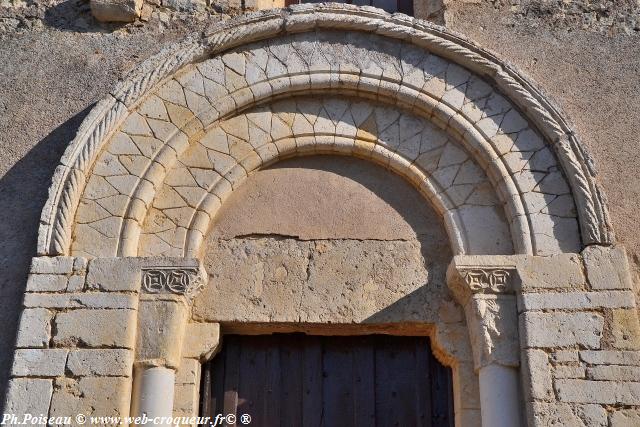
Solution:
[[[582,262],[576,254],[517,257],[522,289],[579,288],[585,283]]]

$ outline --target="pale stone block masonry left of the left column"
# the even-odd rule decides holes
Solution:
[[[112,274],[85,258],[34,258],[5,412],[129,414],[139,283]]]

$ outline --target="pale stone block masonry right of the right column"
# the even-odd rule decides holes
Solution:
[[[640,325],[624,250],[592,246],[544,258],[456,259],[457,268],[517,269],[528,425],[640,422]]]

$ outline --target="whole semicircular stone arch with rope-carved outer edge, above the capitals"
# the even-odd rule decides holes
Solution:
[[[575,136],[489,54],[419,21],[357,8],[294,8],[230,28],[159,55],[96,107],[54,178],[40,252],[197,255],[217,206],[248,174],[324,152],[369,158],[412,182],[442,214],[459,254],[576,252],[611,238]],[[331,31],[340,28],[352,31]],[[278,105],[290,111],[274,112],[283,98]],[[299,107],[305,99],[320,107],[315,115],[303,111],[314,106]],[[357,103],[388,114],[363,113],[356,123],[357,109],[345,118],[336,107]],[[294,126],[293,116],[311,127]],[[268,131],[256,123],[266,117]],[[238,135],[234,121],[251,122],[257,134],[247,125]],[[424,132],[413,126],[446,140],[436,163],[425,160],[414,141]],[[228,142],[220,149],[230,138],[238,140],[234,153]],[[449,160],[456,156],[464,161]],[[454,168],[462,164],[469,166]],[[215,178],[198,182],[188,166]],[[188,187],[178,185],[180,174],[196,184],[182,194],[172,188]],[[155,221],[160,211],[169,228]],[[487,224],[510,238],[487,244]]]

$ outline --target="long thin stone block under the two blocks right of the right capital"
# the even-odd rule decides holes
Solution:
[[[525,293],[519,302],[521,310],[635,307],[635,297],[630,291]]]

